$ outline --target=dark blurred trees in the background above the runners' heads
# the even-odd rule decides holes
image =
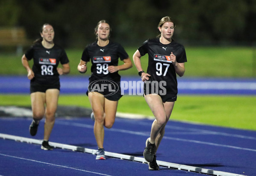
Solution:
[[[0,0],[0,25],[24,26],[31,39],[51,23],[64,47],[95,41],[94,27],[106,19],[111,38],[138,46],[159,33],[164,16],[176,22],[174,38],[188,44],[252,43],[256,0]]]

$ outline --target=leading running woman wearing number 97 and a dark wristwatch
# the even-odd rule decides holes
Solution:
[[[175,23],[170,17],[161,19],[158,29],[159,38],[149,39],[133,55],[134,64],[139,76],[144,81],[144,98],[150,107],[153,121],[150,138],[146,141],[143,156],[148,162],[149,170],[159,170],[156,163],[156,151],[165,133],[168,122],[177,100],[176,74],[183,76],[187,62],[184,47],[174,41]],[[141,56],[148,53],[147,73],[142,70]]]

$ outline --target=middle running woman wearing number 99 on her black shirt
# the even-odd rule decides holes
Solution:
[[[109,23],[99,21],[95,34],[97,41],[88,45],[82,53],[77,69],[80,73],[87,70],[86,64],[91,59],[91,76],[89,78],[88,98],[93,113],[94,135],[98,145],[96,159],[106,159],[103,148],[104,126],[112,128],[115,122],[118,100],[121,98],[119,70],[132,67],[132,61],[124,48],[111,40]],[[118,58],[124,62],[118,65]]]

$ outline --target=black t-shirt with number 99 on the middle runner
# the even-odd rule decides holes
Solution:
[[[109,41],[105,47],[97,45],[97,41],[88,45],[82,53],[82,61],[89,62],[91,59],[91,76],[90,82],[99,79],[107,79],[115,82],[120,82],[121,76],[118,72],[109,73],[110,65],[117,66],[118,58],[121,60],[127,59],[129,56],[124,48],[113,41]]]

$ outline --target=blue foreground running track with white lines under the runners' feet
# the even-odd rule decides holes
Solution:
[[[143,157],[145,141],[153,120],[116,118],[112,129],[105,129],[104,148],[108,152]],[[42,139],[42,120],[35,137],[29,135],[30,118],[0,118],[0,133]],[[50,141],[97,149],[90,118],[57,118]],[[181,123],[170,120],[157,152],[157,160],[212,170],[256,175],[256,132]],[[0,175],[161,175],[202,176],[184,170],[160,167],[149,171],[147,164],[54,149],[0,138]]]

